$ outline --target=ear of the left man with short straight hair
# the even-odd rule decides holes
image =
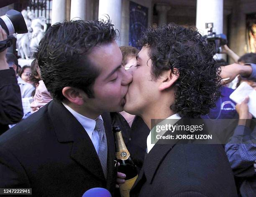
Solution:
[[[82,105],[84,104],[84,95],[82,90],[78,88],[72,88],[72,87],[64,87],[62,89],[62,94],[67,98],[71,103],[76,105]]]

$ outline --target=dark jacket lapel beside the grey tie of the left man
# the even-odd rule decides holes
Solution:
[[[95,147],[79,121],[58,101],[51,101],[48,110],[58,141],[73,141],[70,157],[99,179],[105,180]]]

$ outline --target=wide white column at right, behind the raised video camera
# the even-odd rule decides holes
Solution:
[[[196,27],[203,35],[207,35],[209,30],[205,28],[205,23],[213,23],[216,34],[223,33],[223,0],[197,0]],[[218,59],[224,57],[221,54],[217,56]]]

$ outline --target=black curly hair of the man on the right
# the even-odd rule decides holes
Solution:
[[[172,111],[181,116],[198,117],[216,107],[215,101],[220,96],[220,67],[213,59],[212,45],[195,28],[174,23],[148,28],[138,45],[149,47],[153,80],[167,70],[179,74],[174,83]]]

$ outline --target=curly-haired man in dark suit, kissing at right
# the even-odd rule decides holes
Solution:
[[[207,114],[219,96],[219,68],[212,47],[197,30],[175,24],[148,28],[139,41],[142,49],[124,110],[151,119],[185,118]],[[153,130],[151,130],[153,132]],[[138,134],[139,135],[139,134]],[[153,136],[153,135],[152,135]],[[174,140],[151,144],[130,192],[131,196],[226,197],[237,196],[233,173],[220,144],[193,144]]]

